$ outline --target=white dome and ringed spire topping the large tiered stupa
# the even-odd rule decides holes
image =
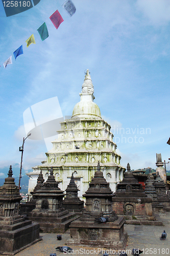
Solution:
[[[89,70],[85,74],[85,79],[82,84],[82,92],[80,93],[81,100],[78,102],[73,111],[72,111],[72,118],[73,117],[101,117],[101,111],[99,106],[93,102],[94,99],[94,89],[93,84],[91,81]]]

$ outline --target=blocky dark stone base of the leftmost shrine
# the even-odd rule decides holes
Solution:
[[[14,255],[41,240],[38,223],[25,220],[12,225],[0,224],[0,255]]]

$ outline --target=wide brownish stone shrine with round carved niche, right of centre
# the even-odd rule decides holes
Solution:
[[[147,197],[142,185],[134,178],[129,163],[123,181],[117,184],[112,201],[116,214],[126,216],[126,223],[131,224],[131,220],[139,220],[140,224],[146,224],[146,220],[155,220],[152,214],[152,199]]]

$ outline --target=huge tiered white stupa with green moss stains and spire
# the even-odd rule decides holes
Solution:
[[[117,146],[112,141],[111,127],[102,119],[99,106],[93,102],[93,93],[93,83],[87,70],[80,93],[81,100],[75,105],[72,117],[61,122],[61,130],[57,131],[58,138],[52,141],[53,148],[46,153],[46,161],[33,167],[33,172],[28,174],[29,193],[33,184],[36,184],[40,170],[46,180],[51,167],[62,190],[66,189],[74,173],[81,200],[94,176],[98,161],[113,191],[117,182],[123,179],[125,168],[120,165],[121,157],[116,153]]]

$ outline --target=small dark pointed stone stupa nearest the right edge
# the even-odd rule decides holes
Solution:
[[[164,210],[170,211],[170,199],[166,195],[166,186],[163,182],[162,178],[159,175],[159,172],[156,175],[156,179],[154,181],[154,186],[157,193],[158,202],[163,204]]]

